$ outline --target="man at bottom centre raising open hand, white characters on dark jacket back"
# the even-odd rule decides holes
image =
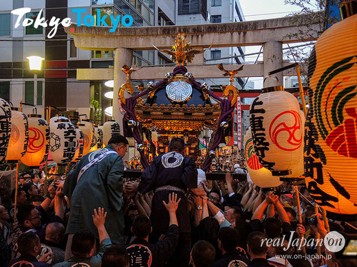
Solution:
[[[169,202],[167,204],[164,202],[164,206],[167,211],[169,211],[169,230],[165,237],[155,244],[149,244],[149,233],[152,231],[149,218],[139,215],[133,221],[131,231],[135,239],[127,248],[130,257],[130,267],[160,267],[169,259],[178,242],[179,232],[176,210],[179,202],[180,199],[177,200],[177,194],[175,193],[169,196]]]

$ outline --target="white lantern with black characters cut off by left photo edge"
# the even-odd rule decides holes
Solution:
[[[5,162],[6,152],[10,141],[11,132],[11,109],[5,100],[0,98],[0,165]]]

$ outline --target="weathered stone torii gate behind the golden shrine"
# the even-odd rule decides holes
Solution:
[[[126,75],[120,69],[123,65],[131,66],[133,50],[171,49],[177,32],[184,32],[188,43],[195,49],[209,47],[239,47],[263,45],[263,63],[244,65],[235,77],[267,77],[269,71],[289,65],[283,62],[283,43],[297,43],[316,40],[321,30],[321,21],[317,17],[294,16],[262,21],[244,21],[237,23],[214,23],[204,25],[183,25],[163,27],[120,27],[116,32],[109,32],[109,27],[65,27],[65,32],[74,38],[76,47],[89,50],[115,51],[114,67],[108,69],[77,69],[77,80],[114,80],[113,117],[122,125],[116,95],[121,84],[126,82]],[[232,65],[235,69],[237,66]],[[215,65],[204,65],[204,55],[199,54],[188,65],[195,78],[221,78],[221,71]],[[301,66],[304,73],[306,66]],[[159,80],[172,67],[148,67],[145,71],[134,71],[132,80]],[[306,72],[305,72],[306,73]],[[282,84],[283,76],[295,76],[295,71],[277,73]],[[274,80],[267,80],[267,86],[274,86]]]

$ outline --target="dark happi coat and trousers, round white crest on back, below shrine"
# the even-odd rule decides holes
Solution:
[[[161,154],[153,159],[151,165],[144,170],[138,187],[141,194],[151,190],[155,192],[151,203],[150,217],[153,231],[166,233],[169,229],[169,213],[162,204],[162,200],[168,202],[169,194],[175,192],[177,199],[181,198],[176,211],[180,233],[191,232],[186,196],[182,191],[166,189],[155,191],[155,189],[164,186],[178,187],[183,191],[188,188],[197,188],[195,161],[175,151]]]

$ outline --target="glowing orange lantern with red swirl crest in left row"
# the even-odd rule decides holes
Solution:
[[[28,115],[28,150],[21,158],[23,164],[39,167],[45,163],[50,150],[50,125],[41,115]]]

